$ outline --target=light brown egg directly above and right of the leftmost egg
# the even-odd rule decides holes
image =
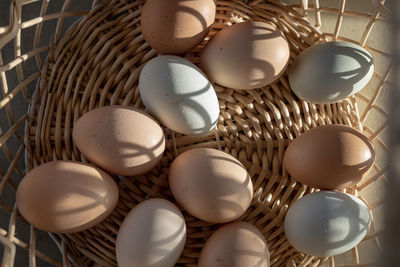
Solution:
[[[85,113],[74,125],[73,140],[91,162],[110,173],[145,173],[161,160],[164,132],[148,114],[128,106]]]

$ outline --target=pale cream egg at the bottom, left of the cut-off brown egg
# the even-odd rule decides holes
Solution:
[[[118,231],[118,266],[175,266],[185,242],[186,224],[179,209],[165,199],[145,200],[128,213]]]

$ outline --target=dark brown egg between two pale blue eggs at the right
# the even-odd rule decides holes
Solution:
[[[365,177],[374,160],[374,148],[365,135],[344,125],[324,125],[291,142],[283,162],[288,173],[301,183],[340,189]]]

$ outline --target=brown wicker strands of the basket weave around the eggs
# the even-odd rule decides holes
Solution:
[[[144,109],[137,88],[138,77],[143,65],[157,55],[144,41],[140,31],[140,13],[144,1],[104,1],[93,3],[92,9],[73,24],[64,36],[61,36],[63,20],[68,16],[83,15],[83,12],[67,11],[69,1],[54,17],[58,19],[54,38],[48,46],[40,47],[39,38],[43,20],[52,19],[46,13],[47,1],[42,1],[39,17],[43,20],[21,22],[21,6],[28,1],[14,1],[11,7],[10,27],[5,32],[0,28],[0,49],[14,40],[15,59],[3,62],[0,55],[0,86],[3,96],[0,98],[0,110],[7,114],[10,125],[0,129],[0,147],[9,160],[8,169],[1,170],[0,192],[6,186],[12,190],[16,184],[11,179],[14,173],[22,175],[25,171],[19,164],[25,151],[25,167],[30,170],[42,163],[56,160],[86,161],[72,142],[72,128],[84,113],[107,105],[131,105]],[[315,25],[305,16],[307,1],[299,6],[287,7],[278,1],[217,1],[216,23],[209,36],[228,27],[232,23],[247,19],[270,21],[285,34],[291,49],[290,63],[305,48],[315,42],[340,38],[339,32],[345,15],[369,18],[361,40],[357,42],[367,50],[385,55],[385,52],[366,46],[369,34],[376,21],[383,19],[387,12],[383,4],[378,4],[375,14],[345,11],[346,1],[342,0],[339,9],[319,7],[314,1]],[[322,11],[337,14],[337,24],[333,34],[324,34],[319,30]],[[25,23],[25,24],[24,24]],[[35,27],[34,49],[21,54],[21,28]],[[188,53],[187,59],[199,61],[199,52],[208,38]],[[22,40],[23,41],[23,40]],[[41,54],[48,51],[43,62]],[[29,58],[35,58],[37,73],[25,77],[23,64]],[[15,69],[19,85],[9,90],[7,72]],[[8,230],[0,229],[0,242],[6,247],[3,264],[7,266],[15,256],[15,246],[29,250],[30,264],[35,266],[36,257],[55,265],[90,266],[97,262],[104,266],[116,265],[115,239],[119,225],[127,213],[139,202],[150,197],[163,197],[173,201],[168,188],[168,167],[181,152],[194,147],[212,147],[228,152],[238,158],[248,170],[254,185],[254,199],[251,207],[240,218],[257,226],[265,235],[271,252],[272,266],[318,266],[328,261],[336,266],[334,258],[315,258],[297,252],[290,246],[283,232],[283,219],[288,207],[304,194],[315,189],[306,187],[288,177],[282,166],[285,148],[288,143],[310,128],[324,124],[346,124],[364,130],[373,141],[377,150],[387,152],[380,134],[386,122],[377,129],[364,124],[374,112],[388,114],[376,104],[376,100],[386,83],[391,68],[384,74],[375,73],[379,81],[369,96],[357,94],[340,103],[315,105],[299,100],[290,90],[286,73],[272,85],[256,90],[233,90],[215,85],[221,114],[217,129],[207,136],[183,136],[164,128],[166,134],[166,152],[159,165],[145,175],[136,177],[114,176],[119,190],[120,200],[112,215],[98,226],[75,234],[52,235],[62,252],[62,262],[51,259],[45,253],[36,250],[36,229],[31,227],[29,244],[15,237],[16,220],[23,220],[17,214],[16,207],[1,207],[11,213]],[[33,93],[27,85],[36,82]],[[22,94],[29,103],[26,114],[15,118],[12,104],[16,95]],[[363,103],[359,112],[358,103]],[[24,127],[25,133],[21,136]],[[20,141],[17,151],[8,149],[12,138]],[[22,142],[23,141],[23,142]],[[378,147],[379,146],[379,147]],[[380,147],[383,148],[380,148]],[[383,177],[385,168],[376,164],[371,175],[357,186],[345,191],[358,195],[360,190],[368,188]],[[368,203],[372,210],[380,207],[382,201]],[[186,219],[188,237],[178,266],[196,266],[197,258],[207,238],[218,228],[202,222],[183,211]],[[374,240],[379,247],[379,232],[372,223],[370,233],[365,240]],[[352,251],[352,266],[360,264],[359,252]],[[294,265],[290,265],[294,264]]]

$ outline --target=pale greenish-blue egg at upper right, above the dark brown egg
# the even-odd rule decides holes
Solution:
[[[374,64],[367,50],[332,41],[303,51],[289,70],[289,83],[301,99],[333,103],[361,91],[373,74]]]

